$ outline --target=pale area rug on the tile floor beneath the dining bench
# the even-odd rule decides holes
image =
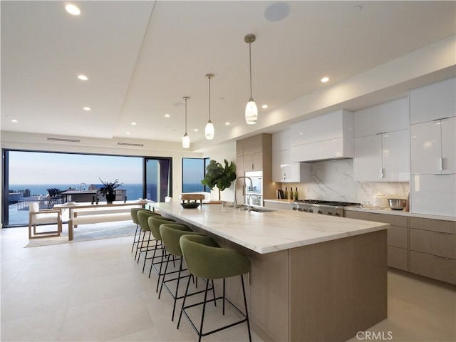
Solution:
[[[50,227],[50,230],[54,229]],[[41,229],[40,229],[41,230]],[[135,235],[136,224],[133,222],[108,222],[97,224],[81,224],[73,230],[73,241],[68,241],[68,226],[63,224],[60,237],[43,237],[31,239],[25,247],[40,247],[51,244],[72,244],[99,239],[112,239],[114,237],[128,237]]]

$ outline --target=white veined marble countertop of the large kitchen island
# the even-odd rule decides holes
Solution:
[[[150,207],[194,224],[259,254],[317,244],[387,229],[389,224],[344,217],[276,210],[247,212],[220,204],[184,209],[178,201],[150,202]]]

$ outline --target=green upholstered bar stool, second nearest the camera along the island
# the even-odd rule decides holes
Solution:
[[[160,234],[162,235],[162,242],[163,242],[163,245],[165,246],[165,249],[167,252],[167,259],[166,259],[165,271],[163,272],[162,284],[160,286],[160,292],[158,294],[158,298],[160,299],[163,286],[165,286],[165,289],[167,289],[167,291],[172,296],[172,299],[174,300],[174,304],[172,306],[172,316],[171,316],[171,321],[174,321],[174,314],[176,311],[177,299],[184,298],[184,296],[179,296],[180,280],[190,276],[190,274],[185,272],[185,271],[187,271],[187,269],[183,268],[184,258],[182,257],[182,250],[180,249],[180,243],[179,243],[180,237],[182,237],[182,235],[188,235],[188,234],[199,235],[199,236],[204,236],[204,234],[187,231],[187,230],[182,230],[182,227],[180,227],[180,224],[173,224],[173,223],[162,224],[160,226]],[[178,271],[168,272],[168,266],[170,264],[171,256],[177,257],[178,259],[180,259]],[[171,278],[171,279],[165,279],[165,277],[167,275],[170,275],[170,274],[173,274],[176,272],[177,272],[177,277]],[[176,286],[175,286],[174,291],[171,291],[171,289],[167,286],[167,283],[169,283],[170,281],[176,281]],[[212,281],[212,291],[214,291],[214,281]],[[204,292],[204,290],[192,292],[192,294],[189,294],[189,296],[194,295],[194,294],[201,294],[202,292]],[[215,292],[213,294],[215,297]]]

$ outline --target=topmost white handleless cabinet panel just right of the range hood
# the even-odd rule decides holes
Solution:
[[[407,97],[357,110],[353,114],[355,138],[395,130],[408,130],[410,126]]]

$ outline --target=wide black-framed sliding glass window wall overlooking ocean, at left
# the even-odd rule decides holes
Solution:
[[[42,209],[65,201],[64,196],[51,197],[65,190],[90,190],[100,187],[101,181],[118,180],[118,190],[128,199],[149,198],[164,201],[170,196],[171,158],[119,155],[89,155],[63,152],[33,152],[4,150],[3,210],[4,227],[28,224],[28,203],[38,202]],[[157,161],[160,176],[155,189],[146,187],[149,170],[145,165]],[[146,191],[147,190],[147,191]],[[153,193],[153,195],[152,195]],[[150,195],[148,195],[150,194]],[[156,196],[158,195],[158,196]],[[79,201],[78,201],[79,202]]]

